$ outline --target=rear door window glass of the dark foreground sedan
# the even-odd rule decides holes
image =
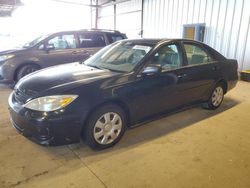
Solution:
[[[188,65],[204,64],[213,61],[212,57],[195,44],[184,44]]]

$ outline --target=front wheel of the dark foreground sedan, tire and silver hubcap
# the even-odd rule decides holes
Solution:
[[[105,114],[110,121],[106,121],[108,118],[104,117]],[[90,115],[83,130],[83,139],[92,149],[101,150],[119,142],[125,130],[126,116],[124,111],[117,105],[107,104]],[[113,135],[114,139],[111,135]]]

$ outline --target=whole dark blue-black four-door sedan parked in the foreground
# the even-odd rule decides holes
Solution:
[[[9,97],[11,121],[40,144],[83,138],[90,147],[104,149],[126,128],[184,105],[218,108],[237,83],[237,65],[196,41],[118,41],[84,63],[21,79]]]

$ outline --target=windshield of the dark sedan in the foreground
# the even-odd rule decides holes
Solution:
[[[135,44],[129,41],[116,42],[97,52],[84,64],[111,71],[131,72],[151,49],[150,45]]]

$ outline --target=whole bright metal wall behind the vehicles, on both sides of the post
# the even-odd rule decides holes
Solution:
[[[204,42],[226,57],[237,59],[240,70],[250,69],[249,0],[143,0],[143,2],[142,12],[140,11],[142,0],[117,4],[117,14],[120,16],[117,15],[116,23],[114,23],[114,11],[111,9],[108,11],[108,7],[101,8],[98,28],[115,28],[128,32],[129,37],[139,37],[136,32],[141,30],[141,15],[143,15],[144,38],[181,38],[184,24],[205,23]],[[114,10],[113,6],[110,7]],[[105,12],[109,12],[109,15]]]

